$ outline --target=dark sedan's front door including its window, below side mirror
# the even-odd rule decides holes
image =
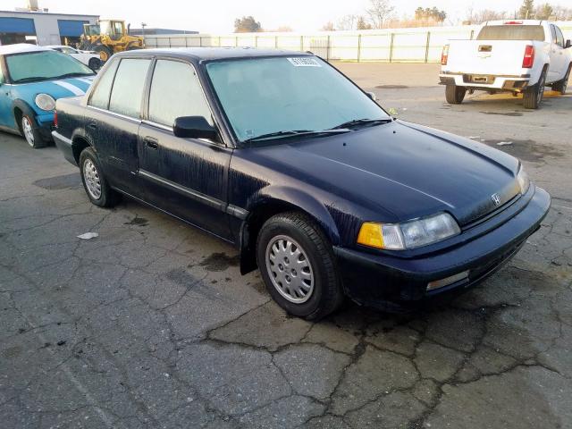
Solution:
[[[231,239],[226,214],[231,148],[172,133],[175,118],[213,115],[190,63],[156,60],[148,110],[139,128],[139,176],[148,202],[223,239]]]

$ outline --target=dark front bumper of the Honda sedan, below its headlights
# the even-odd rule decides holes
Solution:
[[[465,290],[508,262],[540,228],[550,206],[548,192],[534,188],[526,206],[507,222],[475,240],[419,257],[336,247],[344,290],[357,303],[386,311],[400,311],[430,297]],[[427,291],[427,283],[465,271],[468,279]]]

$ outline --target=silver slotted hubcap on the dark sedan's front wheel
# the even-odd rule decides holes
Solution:
[[[312,265],[304,249],[287,235],[276,236],[268,243],[266,270],[274,288],[290,302],[302,304],[312,296]]]

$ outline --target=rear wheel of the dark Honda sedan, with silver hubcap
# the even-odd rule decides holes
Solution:
[[[101,169],[96,152],[86,147],[80,155],[80,173],[89,200],[100,207],[113,207],[121,200],[121,194],[111,189]]]

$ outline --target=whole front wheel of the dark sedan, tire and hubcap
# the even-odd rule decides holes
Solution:
[[[276,214],[257,239],[257,263],[266,289],[291,315],[316,320],[340,307],[341,276],[332,245],[304,214]]]

